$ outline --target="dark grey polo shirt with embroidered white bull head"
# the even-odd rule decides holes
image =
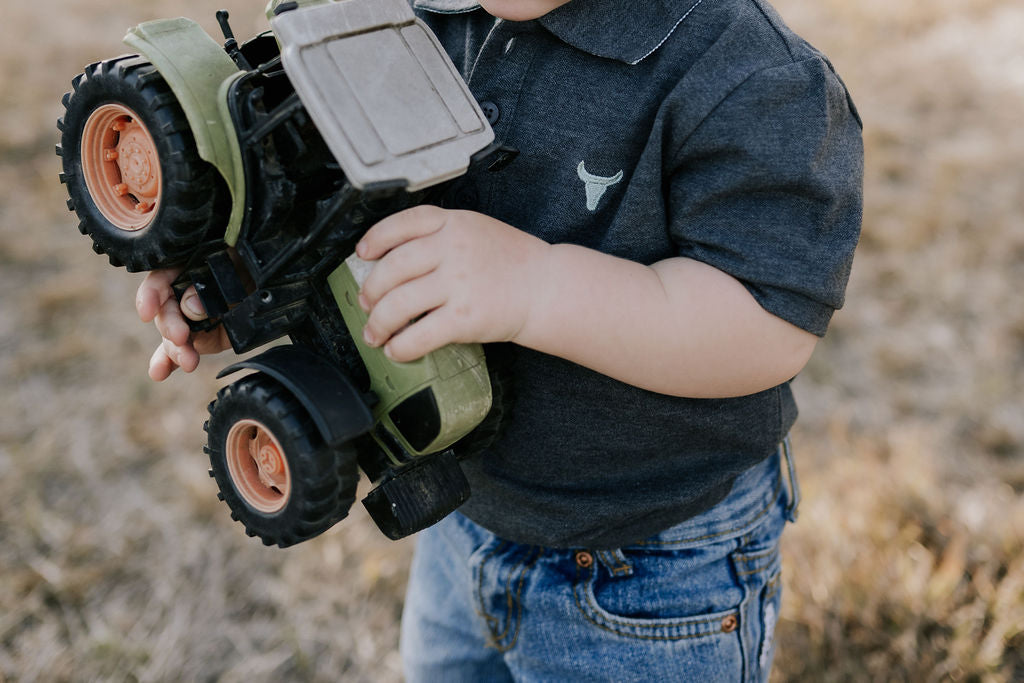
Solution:
[[[860,121],[828,60],[767,3],[572,0],[522,23],[413,4],[520,153],[461,179],[450,206],[645,264],[703,261],[824,334],[859,234]],[[512,541],[646,538],[721,500],[797,416],[788,384],[678,398],[529,349],[488,352],[509,358],[515,407],[465,463],[462,510]]]

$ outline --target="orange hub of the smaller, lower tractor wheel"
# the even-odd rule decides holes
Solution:
[[[255,420],[239,420],[224,445],[227,471],[236,489],[250,506],[280,512],[292,494],[288,460],[273,433]]]

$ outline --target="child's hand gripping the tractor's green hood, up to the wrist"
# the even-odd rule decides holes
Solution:
[[[452,342],[514,341],[548,248],[470,211],[419,206],[389,216],[355,250],[379,259],[359,295],[370,313],[364,336],[398,361]]]

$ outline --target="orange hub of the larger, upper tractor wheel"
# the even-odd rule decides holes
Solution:
[[[160,206],[160,157],[148,129],[123,104],[100,104],[82,130],[82,175],[116,227],[140,230]]]

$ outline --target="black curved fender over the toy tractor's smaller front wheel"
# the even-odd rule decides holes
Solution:
[[[272,377],[294,395],[331,447],[367,433],[374,418],[367,400],[334,364],[302,346],[287,344],[224,368],[217,378],[240,370]]]

